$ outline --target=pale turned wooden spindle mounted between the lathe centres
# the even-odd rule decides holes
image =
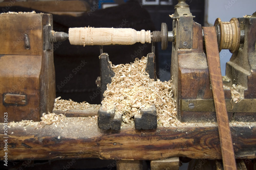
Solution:
[[[151,43],[150,31],[131,28],[69,28],[72,45],[131,45],[136,42]]]

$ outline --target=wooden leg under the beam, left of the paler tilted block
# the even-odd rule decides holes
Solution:
[[[142,161],[120,160],[116,163],[117,170],[142,170]]]

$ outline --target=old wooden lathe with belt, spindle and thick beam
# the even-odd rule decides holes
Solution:
[[[185,1],[178,0],[170,17],[172,31],[162,23],[161,31],[82,27],[69,28],[67,34],[53,31],[50,14],[1,14],[0,23],[6,23],[0,26],[0,39],[5,40],[0,42],[1,126],[7,123],[4,113],[8,113],[8,122],[40,121],[43,113],[48,112],[64,114],[53,111],[53,42],[66,39],[71,45],[100,46],[96,84],[101,88],[101,100],[115,76],[103,46],[151,43],[152,53],[146,56],[145,71],[157,82],[155,43],[161,42],[165,50],[172,42],[171,89],[177,120],[184,123],[158,126],[155,105],[138,108],[141,114],[134,116],[133,127],[122,127],[123,114],[116,112],[115,107],[102,105],[93,113],[90,109],[70,111],[67,119],[71,133],[62,134],[63,129],[57,125],[51,129],[52,124],[26,127],[26,131],[20,126],[10,127],[14,134],[8,133],[8,159],[25,160],[32,153],[37,160],[99,157],[121,160],[118,169],[130,163],[141,169],[141,160],[150,160],[152,170],[170,166],[178,169],[182,159],[178,157],[216,160],[214,165],[223,169],[239,169],[244,166],[241,159],[255,159],[256,13],[231,18],[229,22],[217,18],[213,27],[202,27],[193,20]],[[20,25],[23,20],[28,23]],[[222,49],[232,53],[224,77],[219,59]],[[80,131],[74,119],[77,112],[82,113],[80,117],[97,115],[97,120],[83,122],[91,124],[93,132]],[[5,136],[3,131],[0,136]],[[4,161],[5,144],[0,143]]]

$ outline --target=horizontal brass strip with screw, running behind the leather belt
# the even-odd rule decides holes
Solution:
[[[242,99],[238,103],[234,103],[231,99],[226,99],[227,112],[256,112],[256,99]],[[190,105],[194,104],[194,108]],[[232,108],[233,107],[233,108]],[[204,111],[214,112],[214,100],[212,99],[192,99],[192,100],[180,100],[181,111]]]

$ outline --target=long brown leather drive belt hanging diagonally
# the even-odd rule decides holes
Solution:
[[[207,63],[218,122],[223,166],[224,170],[237,169],[223,91],[216,28],[203,27],[203,29],[205,33]]]

